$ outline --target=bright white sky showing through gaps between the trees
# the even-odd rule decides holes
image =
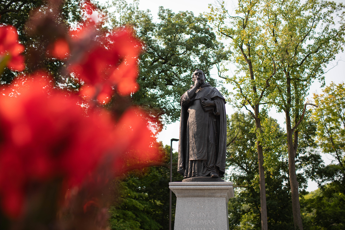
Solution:
[[[100,1],[101,3],[104,0]],[[131,3],[132,0],[128,0],[128,3]],[[234,9],[236,6],[234,4],[235,1],[225,1],[227,8],[229,11]],[[344,2],[342,0],[336,0],[336,2]],[[192,11],[195,16],[198,16],[200,13],[209,12],[208,4],[214,4],[214,0],[172,0],[172,1],[161,1],[161,0],[140,0],[139,1],[139,8],[141,10],[149,9],[151,11],[152,17],[154,20],[157,20],[158,16],[158,8],[159,6],[163,6],[165,9],[171,9],[173,12],[178,11]],[[338,65],[336,63],[338,62]],[[335,66],[333,69],[331,69]],[[325,74],[325,81],[326,86],[328,86],[332,81],[336,84],[345,81],[345,53],[337,54],[336,61],[332,62],[329,65],[329,71]],[[228,73],[229,75],[231,74]],[[217,72],[214,69],[211,71],[211,76],[217,76]],[[215,77],[217,80],[221,81],[222,79]],[[314,82],[309,89],[309,97],[308,99],[311,100],[313,97],[313,92],[321,93],[321,84],[319,82]],[[226,105],[227,114],[234,113],[234,108],[230,105]],[[269,112],[269,116],[278,120],[278,123],[282,128],[285,128],[284,120],[285,114],[277,113],[275,109],[272,109]],[[162,141],[164,145],[170,145],[170,139],[172,138],[179,138],[179,122],[175,122],[166,126],[166,128],[158,134],[158,141]],[[174,151],[178,149],[178,142],[172,142]],[[327,156],[323,156],[324,161],[330,163],[331,160],[327,159]],[[317,189],[317,184],[315,182],[308,182],[308,191],[313,191]]]

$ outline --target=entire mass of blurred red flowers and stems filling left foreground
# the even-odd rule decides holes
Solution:
[[[56,79],[77,78],[81,89],[79,95],[58,90],[56,79],[42,71],[0,88],[0,208],[8,218],[23,221],[20,226],[41,228],[44,218],[30,219],[31,212],[46,208],[55,220],[62,209],[71,207],[75,215],[82,213],[71,226],[86,223],[84,227],[93,229],[106,224],[107,202],[101,191],[109,181],[162,155],[148,127],[155,121],[122,97],[138,90],[142,43],[129,28],[101,32],[105,14],[97,15],[89,1],[81,2],[85,21],[69,31],[59,19],[62,3],[51,0],[32,12],[27,32],[47,42],[28,49],[27,65],[39,69],[42,53],[64,59]],[[24,47],[17,40],[13,27],[0,26],[0,64],[21,71]],[[95,100],[114,104],[106,110]],[[51,190],[55,195],[44,207],[45,192]],[[88,215],[96,209],[92,221]]]

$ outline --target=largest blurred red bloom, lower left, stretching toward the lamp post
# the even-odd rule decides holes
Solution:
[[[137,162],[159,157],[138,109],[126,111],[118,123],[105,110],[86,114],[79,97],[53,89],[50,81],[36,73],[2,90],[0,196],[12,218],[22,213],[30,183],[65,178],[69,187],[78,186],[105,159],[116,172],[125,170],[129,157]]]

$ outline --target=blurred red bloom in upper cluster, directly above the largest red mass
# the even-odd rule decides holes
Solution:
[[[91,33],[90,28],[83,27],[72,31],[71,38],[80,42]],[[133,36],[133,31],[123,28],[98,38],[91,50],[72,63],[70,69],[89,87],[101,86],[101,89],[93,90],[95,92],[110,92],[109,86],[114,86],[119,94],[128,95],[139,88],[136,78],[141,50],[142,44]],[[105,93],[101,98],[107,97],[110,98],[111,93]]]

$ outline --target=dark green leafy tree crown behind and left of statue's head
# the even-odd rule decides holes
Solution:
[[[209,76],[210,69],[227,59],[207,19],[192,12],[174,13],[159,8],[159,21],[152,21],[147,11],[138,9],[139,1],[113,1],[109,13],[113,26],[130,25],[144,42],[141,55],[138,92],[133,102],[147,108],[164,122],[180,116],[180,97],[191,84],[191,74],[199,68]],[[212,78],[207,79],[215,84]]]

